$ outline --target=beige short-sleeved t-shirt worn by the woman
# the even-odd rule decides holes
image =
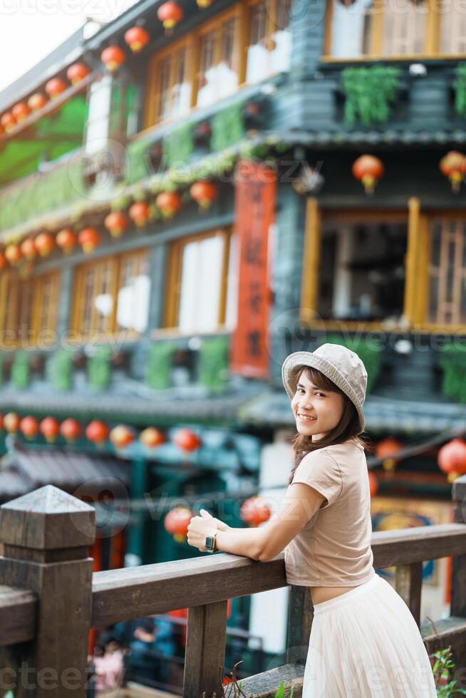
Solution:
[[[357,586],[371,579],[371,494],[361,444],[351,438],[306,454],[293,482],[311,485],[327,501],[284,550],[287,583]]]

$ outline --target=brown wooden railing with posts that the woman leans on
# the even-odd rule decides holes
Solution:
[[[452,645],[466,667],[466,476],[455,481],[455,522],[373,533],[374,567],[395,566],[398,593],[420,620],[422,563],[452,556],[450,618],[422,627],[428,652]],[[463,509],[465,511],[463,512]],[[90,627],[189,608],[183,695],[222,695],[227,599],[286,586],[284,556],[261,563],[219,553],[92,573],[93,507],[46,486],[0,508],[0,698],[83,698]],[[301,695],[313,606],[291,587],[286,664],[242,680],[244,694]],[[230,670],[231,667],[227,667]]]

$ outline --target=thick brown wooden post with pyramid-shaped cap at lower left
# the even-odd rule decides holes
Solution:
[[[0,584],[38,596],[36,639],[15,695],[86,695],[94,522],[92,506],[52,485],[0,508]]]

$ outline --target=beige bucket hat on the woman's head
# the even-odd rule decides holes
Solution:
[[[338,385],[358,411],[361,432],[366,427],[363,402],[366,399],[367,371],[358,355],[340,344],[323,344],[315,351],[295,351],[281,366],[281,379],[291,400],[303,366],[311,366]]]

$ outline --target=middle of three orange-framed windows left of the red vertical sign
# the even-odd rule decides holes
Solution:
[[[147,250],[83,264],[76,269],[73,330],[83,336],[142,333],[149,295]]]

